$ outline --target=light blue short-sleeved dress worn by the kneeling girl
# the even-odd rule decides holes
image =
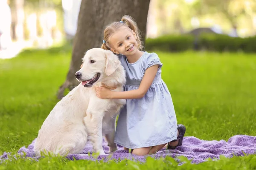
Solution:
[[[162,63],[156,53],[144,54],[129,63],[119,55],[126,71],[125,91],[139,88],[145,70],[159,65],[157,75],[141,99],[127,99],[119,113],[114,142],[130,149],[166,144],[177,139],[177,119],[171,94],[161,78]]]

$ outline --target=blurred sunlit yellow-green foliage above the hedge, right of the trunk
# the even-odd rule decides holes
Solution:
[[[255,0],[152,0],[151,3],[154,17],[150,19],[157,25],[152,31],[160,36],[213,26],[221,27],[227,34],[237,28],[240,36],[255,35]]]

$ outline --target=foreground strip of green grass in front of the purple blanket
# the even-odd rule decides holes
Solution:
[[[181,166],[171,157],[153,159],[148,157],[146,163],[139,163],[131,160],[122,161],[68,161],[61,157],[46,157],[39,161],[32,159],[11,159],[0,164],[0,170],[253,170],[256,168],[256,156],[234,157],[227,159],[221,156],[219,161],[212,161],[201,164],[191,164],[185,157],[179,157],[183,163]]]

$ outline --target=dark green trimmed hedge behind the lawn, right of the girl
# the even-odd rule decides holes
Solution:
[[[256,52],[255,37],[230,37],[225,34],[201,34],[199,37],[193,37],[189,34],[168,35],[154,39],[148,38],[145,41],[147,50],[161,51],[186,51],[192,49],[207,51],[244,51],[246,53]]]

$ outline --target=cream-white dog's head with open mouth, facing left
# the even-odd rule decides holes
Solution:
[[[119,65],[120,61],[112,51],[92,48],[84,55],[81,69],[75,76],[84,87],[91,87],[94,83],[113,74]]]

